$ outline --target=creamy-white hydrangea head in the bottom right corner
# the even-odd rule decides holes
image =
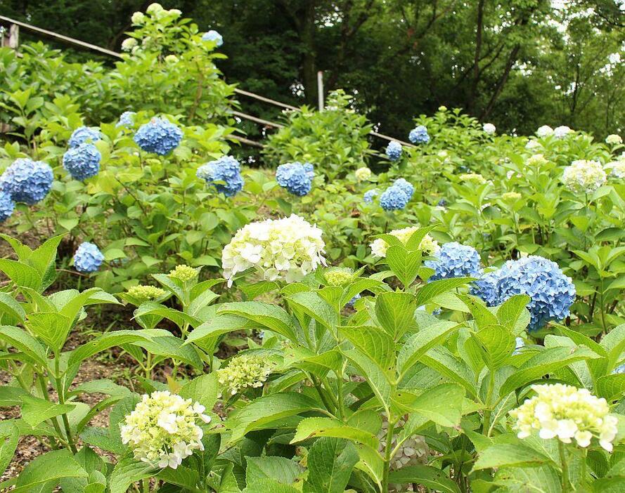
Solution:
[[[510,416],[516,419],[519,438],[527,438],[532,431],[539,430],[543,440],[558,438],[563,443],[575,440],[583,448],[596,438],[603,449],[612,452],[619,420],[610,416],[610,406],[603,397],[562,383],[531,388],[537,395],[510,411]]]

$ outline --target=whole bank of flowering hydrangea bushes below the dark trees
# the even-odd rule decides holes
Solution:
[[[0,50],[0,470],[45,450],[0,489],[625,488],[620,136],[439,107],[378,152],[337,91],[252,168],[228,37],[131,22],[115,67]]]

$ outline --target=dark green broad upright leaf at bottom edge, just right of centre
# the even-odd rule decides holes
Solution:
[[[347,440],[319,438],[308,452],[304,493],[343,493],[358,460],[356,447]]]

